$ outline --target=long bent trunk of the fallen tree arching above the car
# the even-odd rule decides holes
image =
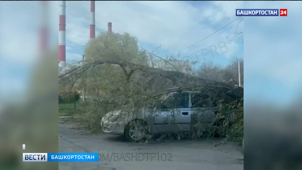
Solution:
[[[231,84],[223,83],[223,82],[217,82],[213,80],[206,80],[200,77],[184,74],[182,72],[179,72],[177,70],[173,70],[172,68],[175,68],[174,66],[167,67],[169,68],[152,68],[152,67],[146,67],[143,65],[137,65],[133,63],[129,63],[126,61],[101,61],[96,60],[92,62],[88,62],[84,65],[78,66],[72,70],[67,71],[66,73],[59,75],[59,79],[63,77],[73,78],[73,80],[70,83],[69,89],[71,90],[74,84],[79,80],[81,75],[94,67],[97,67],[101,64],[115,64],[119,65],[125,72],[127,78],[125,79],[125,82],[131,82],[130,78],[134,71],[138,71],[139,73],[136,74],[135,77],[132,77],[136,80],[145,79],[145,81],[151,85],[153,81],[155,80],[156,83],[160,82],[156,85],[167,85],[167,88],[169,87],[178,87],[178,88],[194,88],[194,87],[204,87],[208,89],[217,89],[220,88],[219,93],[227,94],[226,96],[233,98],[233,99],[240,99],[243,97],[243,88],[236,87]],[[128,68],[128,69],[127,69]],[[159,79],[158,79],[159,78]],[[151,83],[150,83],[151,82]],[[144,82],[143,82],[144,83]],[[215,90],[214,90],[215,91]],[[70,92],[70,91],[69,91]]]

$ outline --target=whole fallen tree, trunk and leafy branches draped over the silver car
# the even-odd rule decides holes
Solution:
[[[199,91],[205,92],[210,96],[216,98],[215,101],[219,102],[221,109],[228,109],[229,117],[226,118],[226,122],[235,121],[235,125],[232,127],[226,126],[228,129],[225,130],[224,136],[231,140],[242,140],[243,139],[243,88],[236,87],[231,84],[216,82],[212,80],[206,80],[200,77],[184,74],[182,72],[173,70],[174,66],[167,66],[168,68],[150,68],[143,65],[133,64],[126,61],[91,61],[87,62],[82,66],[78,66],[67,73],[60,75],[59,79],[71,78],[70,88],[79,80],[81,75],[89,70],[96,67],[101,67],[102,64],[114,64],[120,66],[126,75],[126,79],[123,81],[117,81],[112,89],[104,92],[96,92],[91,94],[87,104],[92,107],[92,110],[88,111],[88,125],[96,130],[98,127],[96,124],[99,123],[104,113],[113,110],[125,110],[128,114],[137,114],[141,108],[152,108],[156,104],[156,101],[161,96],[182,90],[188,91]],[[85,78],[85,77],[83,77]],[[131,89],[125,93],[123,86],[129,86],[127,89]],[[121,93],[117,93],[120,91]],[[91,97],[93,96],[93,97]],[[115,96],[114,99],[109,100],[108,96]],[[118,97],[117,97],[118,96]],[[100,100],[103,99],[103,100]],[[98,111],[96,111],[98,110]],[[101,115],[98,113],[104,111]],[[95,117],[95,115],[97,115]],[[128,115],[129,116],[129,115]],[[221,115],[217,115],[221,116]],[[196,126],[202,124],[196,122]],[[214,136],[214,130],[205,133],[200,126],[200,130],[194,134],[194,136],[202,136],[207,134],[208,137]],[[177,137],[173,135],[164,136],[164,138],[184,138],[192,135],[178,134]]]

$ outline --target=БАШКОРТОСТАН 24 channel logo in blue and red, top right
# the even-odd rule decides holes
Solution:
[[[287,9],[236,9],[236,16],[287,16]]]

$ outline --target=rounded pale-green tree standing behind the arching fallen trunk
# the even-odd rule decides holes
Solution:
[[[137,38],[128,33],[102,33],[91,40],[85,48],[86,63],[101,60],[107,63],[118,61],[147,65],[147,56],[138,50]],[[110,90],[116,83],[128,81],[133,70],[118,64],[101,64],[83,73],[81,86],[88,93]]]

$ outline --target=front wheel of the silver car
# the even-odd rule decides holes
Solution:
[[[146,123],[140,120],[128,123],[124,130],[124,135],[130,142],[140,141],[146,137],[146,134]]]

